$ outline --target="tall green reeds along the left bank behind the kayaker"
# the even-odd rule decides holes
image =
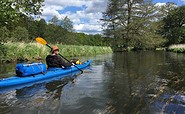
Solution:
[[[98,55],[112,53],[111,47],[106,46],[78,46],[78,45],[57,45],[60,53],[65,57],[78,57],[88,55]],[[42,60],[50,54],[50,49],[47,46],[39,43],[14,43],[7,42],[1,44],[0,47],[0,62],[16,62],[16,61],[33,61]]]

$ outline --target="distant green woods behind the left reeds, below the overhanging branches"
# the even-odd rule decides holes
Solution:
[[[7,41],[32,42],[39,36],[54,44],[110,45],[108,39],[102,38],[100,34],[87,35],[84,33],[75,33],[68,17],[65,17],[63,20],[53,17],[47,23],[44,19],[34,20],[32,17],[24,16],[13,25],[1,26],[0,32],[0,41],[4,43]]]

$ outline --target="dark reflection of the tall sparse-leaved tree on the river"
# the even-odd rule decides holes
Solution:
[[[153,52],[117,53],[113,56],[114,65],[105,67],[105,72],[110,72],[110,113],[148,113],[145,92],[153,84],[157,64],[163,61],[163,58],[156,60],[155,57]]]

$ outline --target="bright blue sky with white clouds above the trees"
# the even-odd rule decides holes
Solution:
[[[185,0],[153,0],[153,2],[185,5]],[[54,16],[58,19],[67,16],[73,22],[75,32],[102,34],[100,19],[107,4],[108,0],[45,0],[41,18],[48,21]]]

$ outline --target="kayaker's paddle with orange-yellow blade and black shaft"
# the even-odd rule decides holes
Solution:
[[[36,38],[36,41],[37,41],[38,43],[41,43],[41,44],[43,44],[43,45],[46,45],[46,46],[48,46],[50,49],[52,49],[51,46],[48,45],[48,43],[46,42],[46,40],[44,40],[43,38],[37,37],[37,38]],[[67,62],[70,62],[68,59],[66,59],[64,56],[62,56],[60,53],[59,53],[59,55],[60,55],[62,58],[64,58]],[[75,66],[78,70],[81,71],[81,74],[83,73],[83,70],[82,70],[82,69],[78,68],[74,63],[72,63],[72,64],[73,64],[73,66]]]

